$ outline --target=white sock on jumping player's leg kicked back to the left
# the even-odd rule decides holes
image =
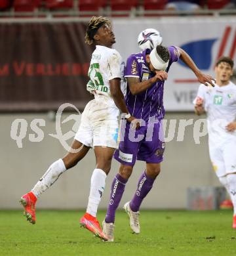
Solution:
[[[64,171],[66,171],[64,161],[62,161],[62,159],[54,161],[54,163],[50,165],[49,169],[47,169],[43,177],[35,184],[31,192],[33,192],[36,198],[39,198],[39,196],[45,192],[45,190],[52,186],[52,184],[60,177],[62,173],[64,173]]]

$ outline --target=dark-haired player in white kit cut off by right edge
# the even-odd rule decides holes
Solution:
[[[210,160],[233,203],[236,228],[236,85],[229,79],[233,60],[223,56],[215,67],[216,86],[200,85],[194,100],[195,113],[207,115]]]

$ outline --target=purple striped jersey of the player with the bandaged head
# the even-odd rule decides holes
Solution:
[[[170,69],[172,62],[179,59],[178,49],[174,46],[168,47],[170,52],[170,60],[167,67],[167,72]],[[146,63],[146,54],[151,51],[146,49],[141,53],[132,54],[127,59],[127,66],[125,68],[125,77],[138,77],[139,81],[145,81],[155,74],[151,73]],[[163,119],[165,116],[165,109],[163,106],[163,91],[165,81],[158,81],[153,83],[149,89],[132,95],[127,86],[127,95],[125,101],[127,104],[128,112],[136,118],[142,118],[145,121],[149,117],[155,116],[155,119]]]

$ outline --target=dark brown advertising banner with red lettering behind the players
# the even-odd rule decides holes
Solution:
[[[83,109],[92,47],[86,23],[0,24],[0,111]],[[81,36],[83,35],[83,36]]]

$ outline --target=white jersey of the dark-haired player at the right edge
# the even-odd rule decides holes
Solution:
[[[236,120],[236,85],[232,82],[224,86],[216,84],[215,87],[201,84],[198,97],[203,98],[207,115],[209,146],[236,140],[236,131],[226,130],[226,126]]]

